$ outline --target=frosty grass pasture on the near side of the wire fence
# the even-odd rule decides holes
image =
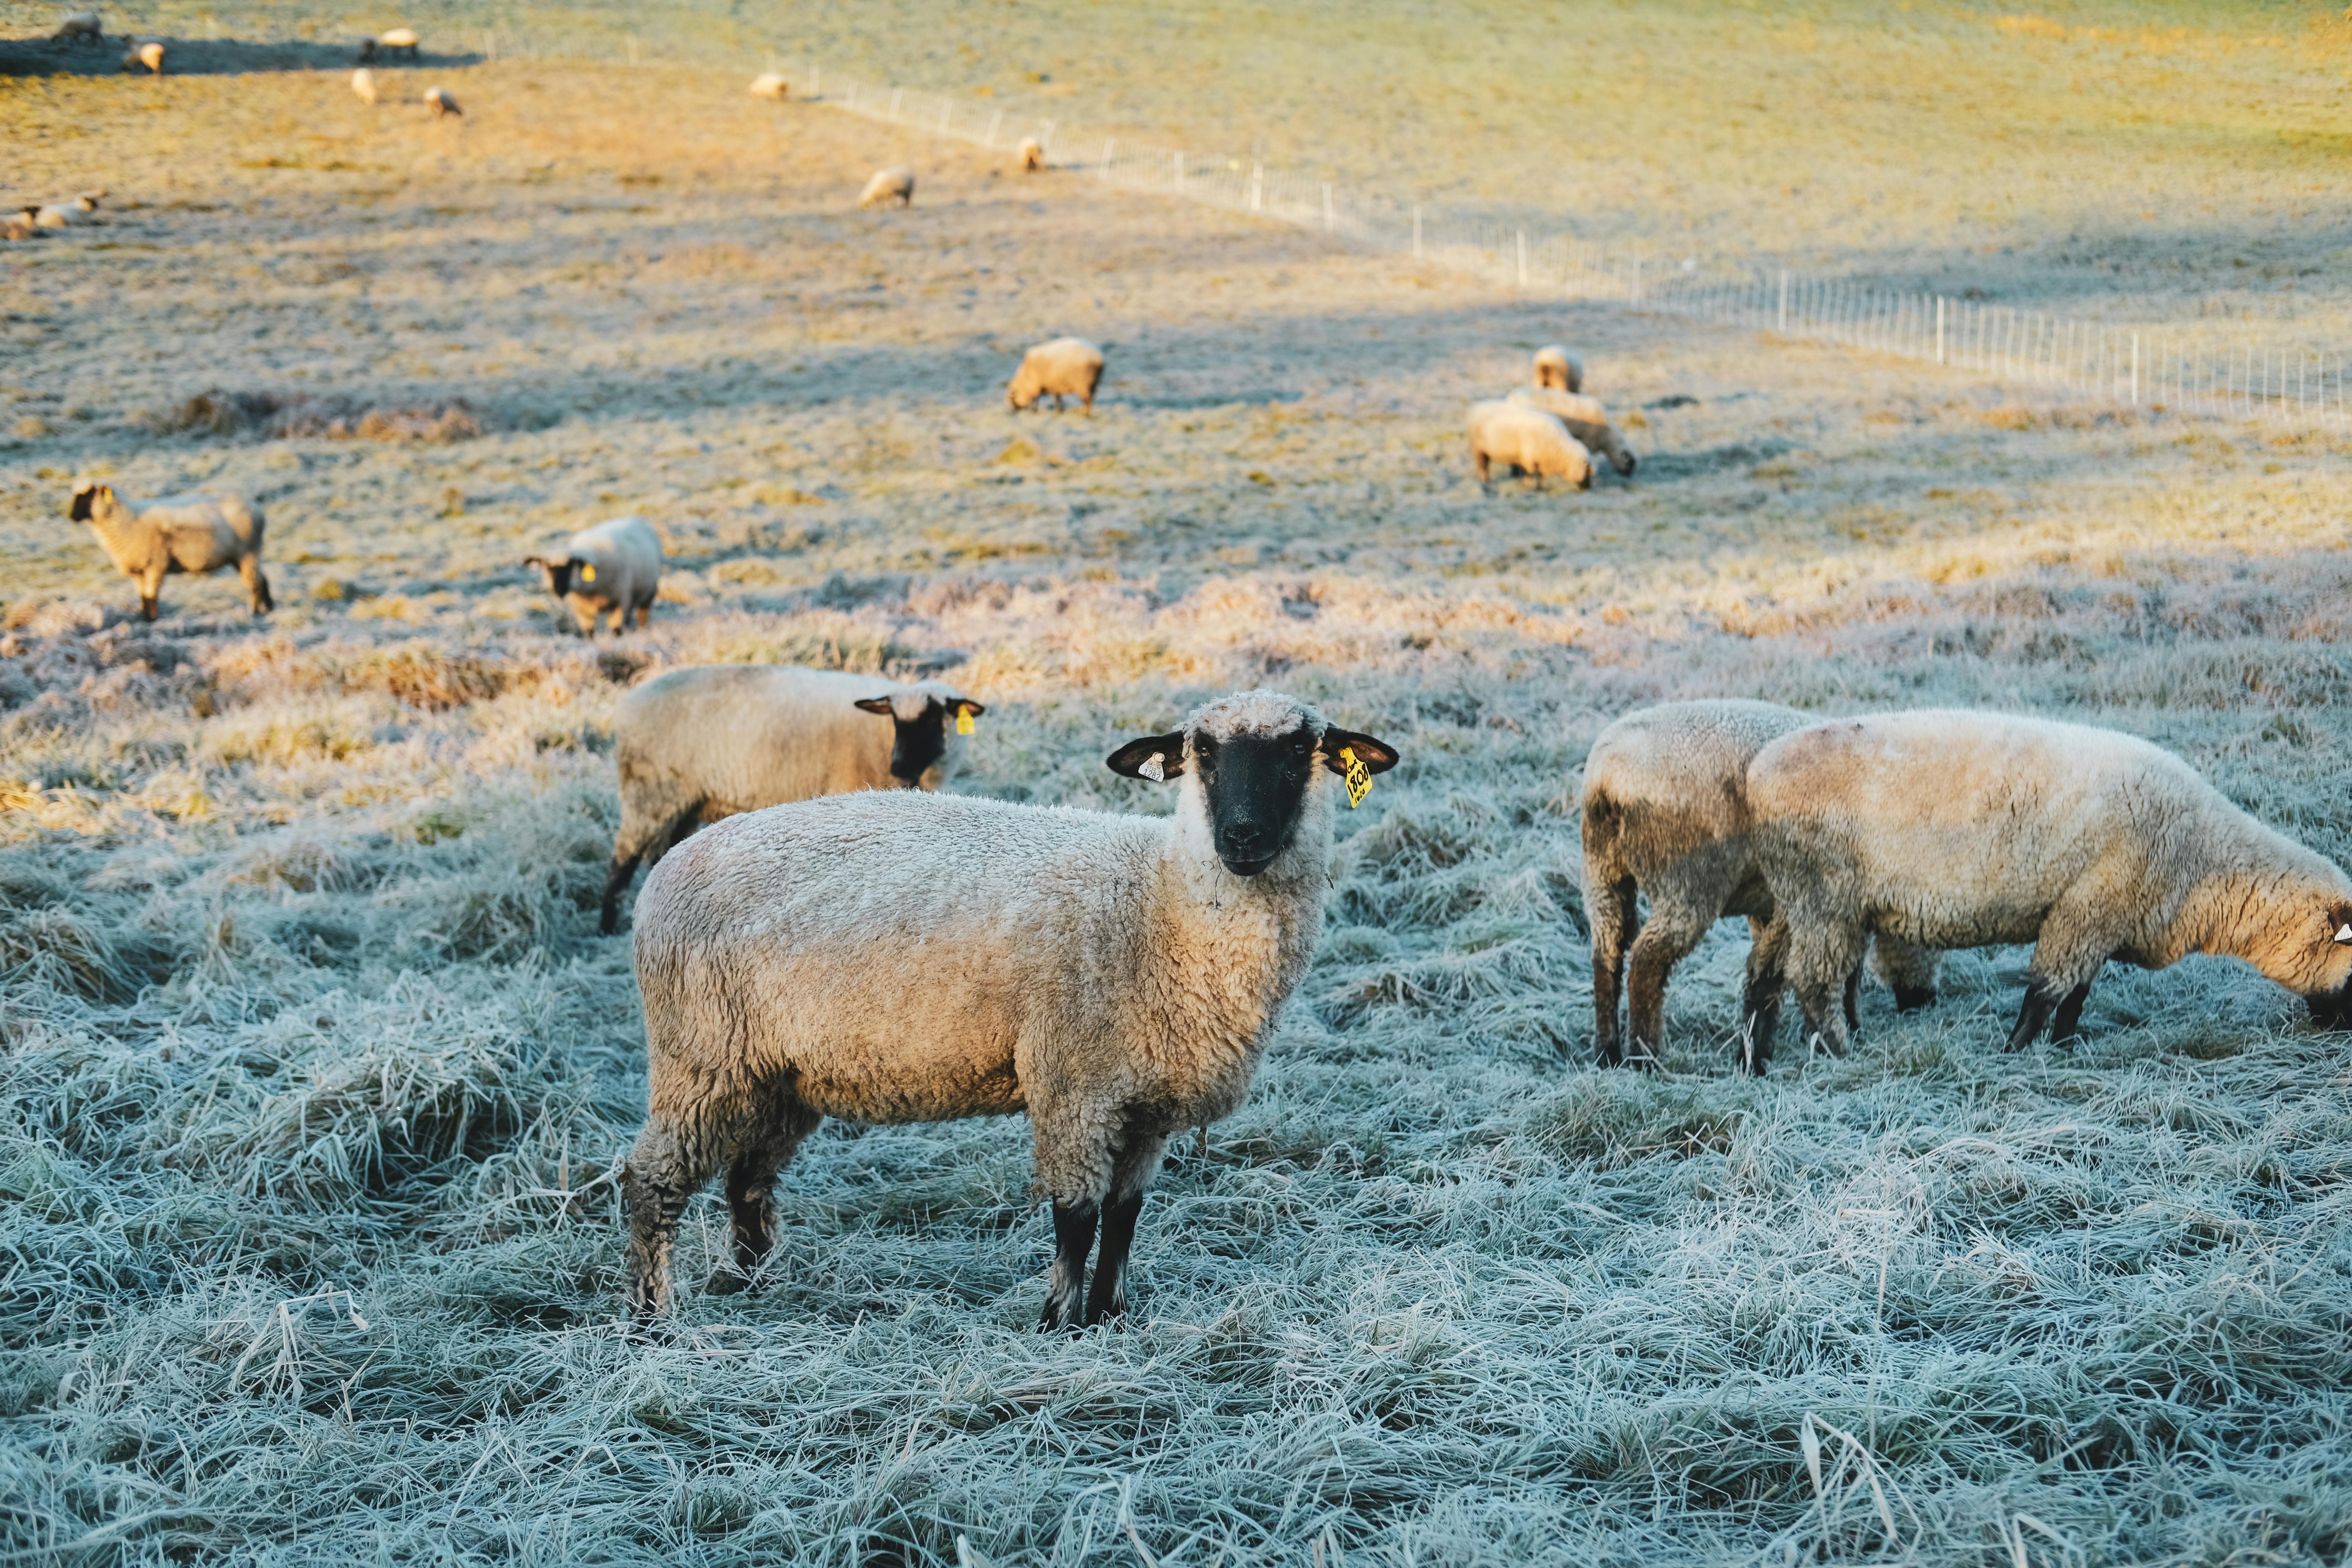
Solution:
[[[118,197],[0,252],[7,1561],[2343,1559],[2345,1037],[2190,961],[2004,1056],[1987,952],[1738,1079],[1724,926],[1670,1072],[1597,1072],[1571,802],[1663,696],[1980,703],[2352,856],[2352,444],[1482,294],[734,80],[435,71],[433,125],[393,78],[0,78],[24,183]],[[913,212],[847,209],[901,160]],[[1054,331],[1112,343],[1091,421],[1004,411]],[[1642,470],[1482,496],[1461,407],[1550,339]],[[75,473],[247,487],[280,611],[127,618]],[[654,630],[557,635],[520,557],[630,510]],[[948,672],[1014,799],[1155,809],[1101,757],[1249,684],[1404,750],[1127,1328],[1030,1331],[1016,1121],[828,1126],[762,1293],[699,1293],[710,1194],[677,1331],[619,1326],[609,724],[708,661]]]

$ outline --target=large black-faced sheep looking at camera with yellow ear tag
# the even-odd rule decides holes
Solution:
[[[1054,1204],[1040,1328],[1127,1309],[1127,1253],[1167,1140],[1230,1114],[1322,929],[1338,778],[1397,752],[1244,691],[1108,757],[1174,816],[906,790],[729,818],[637,903],[647,1124],[623,1166],[630,1305],[670,1305],[677,1215],[727,1166],[734,1260],[823,1117],[1025,1110]],[[1101,1222],[1094,1291],[1087,1253]]]

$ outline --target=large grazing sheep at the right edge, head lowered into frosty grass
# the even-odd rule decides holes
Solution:
[[[1811,724],[1748,764],[1750,844],[1788,978],[1837,1056],[1828,997],[1867,933],[2032,943],[2009,1048],[2074,1039],[2107,959],[2246,959],[2328,1027],[2352,1001],[2352,877],[2136,736],[1997,712]]]

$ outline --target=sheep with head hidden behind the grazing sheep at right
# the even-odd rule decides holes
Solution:
[[[1740,914],[1752,936],[1740,1067],[1762,1072],[1771,1063],[1788,926],[1773,922],[1771,893],[1748,846],[1748,764],[1764,743],[1816,722],[1778,703],[1661,703],[1628,712],[1592,743],[1578,797],[1585,926],[1592,931],[1592,1046],[1604,1067],[1625,1060],[1618,983],[1630,980],[1632,1056],[1656,1065],[1668,976],[1715,922]],[[1649,896],[1649,922],[1635,914],[1637,891]],[[1933,952],[1882,936],[1875,959],[1896,992],[1896,1011],[1936,1001]],[[1858,978],[1846,983],[1849,1023]]]

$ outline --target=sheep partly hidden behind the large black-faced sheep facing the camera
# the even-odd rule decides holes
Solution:
[[[621,832],[604,877],[604,936],[621,929],[637,860],[652,870],[703,823],[762,806],[936,790],[955,771],[957,736],[983,712],[941,682],[901,686],[842,670],[708,665],[644,682],[614,719]]]

